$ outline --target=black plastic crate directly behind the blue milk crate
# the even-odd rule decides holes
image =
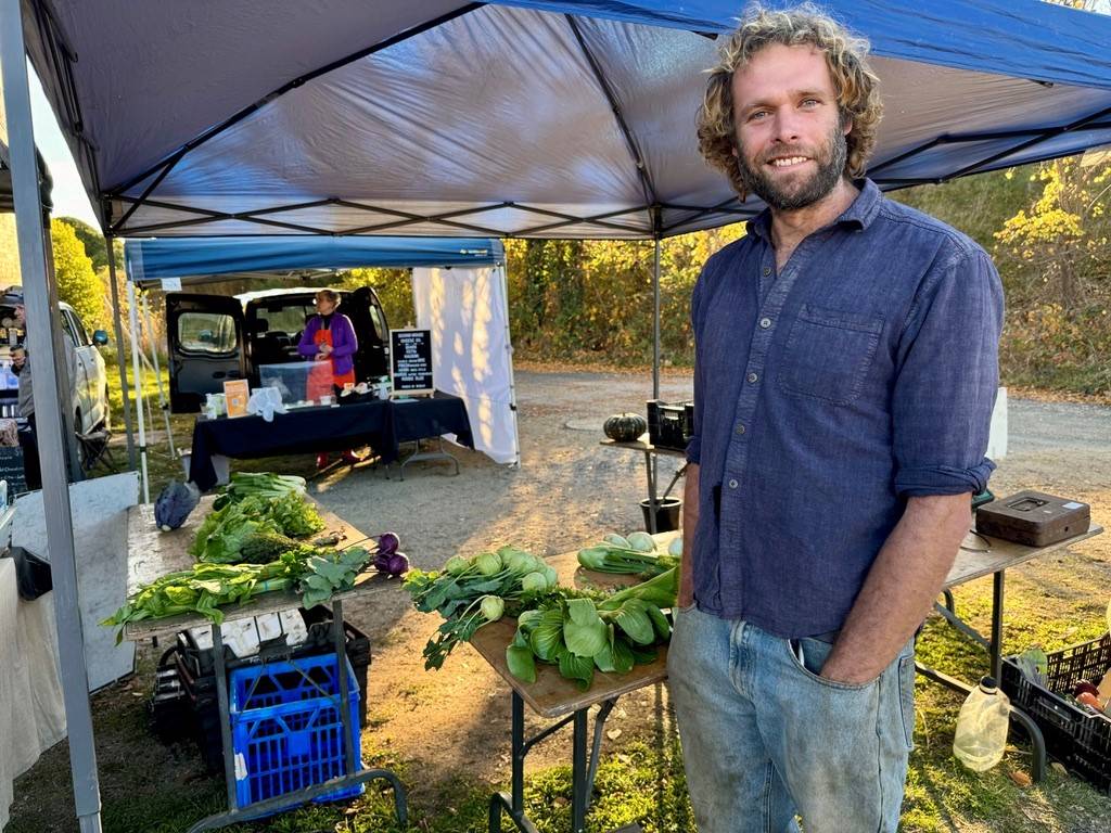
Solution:
[[[327,609],[302,611],[309,625],[309,640],[294,649],[271,650],[271,658],[300,659],[329,653],[332,650],[331,612]],[[343,622],[348,661],[359,682],[359,725],[367,726],[367,675],[370,669],[370,639],[350,622]],[[236,659],[228,656],[229,673],[237,668],[258,664],[259,658]],[[189,704],[191,729],[211,773],[223,772],[223,745],[220,737],[220,712],[216,695],[216,673],[212,670],[212,650],[197,648],[186,632],[179,634],[178,644],[163,655],[161,663],[176,671],[177,681]],[[200,673],[208,669],[207,673]]]

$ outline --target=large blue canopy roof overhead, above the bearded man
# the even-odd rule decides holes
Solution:
[[[116,235],[645,238],[760,208],[693,130],[735,0],[23,2]],[[872,42],[882,188],[1111,143],[1109,18],[827,6]]]

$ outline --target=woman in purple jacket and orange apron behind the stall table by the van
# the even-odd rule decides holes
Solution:
[[[316,295],[317,315],[304,328],[301,343],[297,351],[312,359],[316,365],[309,372],[306,395],[311,400],[334,395],[344,384],[354,384],[354,353],[359,349],[351,319],[337,312],[340,305],[340,294],[330,289],[322,289]],[[360,462],[352,451],[343,453],[348,463]],[[328,465],[328,453],[317,454],[317,468]]]

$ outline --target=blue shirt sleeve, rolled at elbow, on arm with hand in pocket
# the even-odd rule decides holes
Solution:
[[[1003,290],[987,253],[953,253],[922,282],[899,342],[892,401],[901,496],[987,488]]]

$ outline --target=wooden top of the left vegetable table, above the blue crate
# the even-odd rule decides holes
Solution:
[[[161,532],[154,524],[154,505],[141,503],[128,510],[128,596],[134,593],[141,584],[150,582],[179,570],[189,570],[196,560],[189,554],[189,545],[197,535],[197,529],[204,516],[212,510],[214,495],[201,498],[200,505],[180,529],[172,532]],[[339,546],[358,545],[367,536],[343,519],[332,514],[316,503],[326,526],[314,538],[331,533],[340,536]],[[390,579],[377,571],[368,571],[356,579],[356,586],[343,593],[337,593],[332,600],[347,600],[377,593],[390,588],[399,589],[401,581]],[[247,604],[224,605],[220,610],[224,621],[249,619],[264,613],[278,613],[283,610],[296,610],[301,606],[301,596],[293,592],[263,593]],[[187,613],[166,619],[147,619],[140,622],[128,622],[123,626],[123,639],[132,642],[173,634],[198,625],[209,625],[211,620],[199,613]]]

